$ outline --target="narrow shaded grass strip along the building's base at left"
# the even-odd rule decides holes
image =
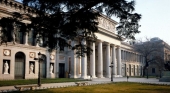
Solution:
[[[79,79],[72,78],[55,78],[55,79],[41,79],[41,83],[61,83],[61,82],[77,82],[83,81]],[[2,86],[13,86],[13,85],[28,85],[28,84],[37,84],[37,79],[22,79],[22,80],[4,80],[0,81],[0,87]]]

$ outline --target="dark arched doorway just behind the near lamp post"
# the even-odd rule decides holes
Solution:
[[[46,56],[42,55],[43,61],[40,62],[40,76],[46,78]]]

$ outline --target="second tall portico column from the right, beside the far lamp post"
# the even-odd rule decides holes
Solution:
[[[112,45],[112,62],[113,62],[113,75],[116,76],[116,49],[115,45]]]

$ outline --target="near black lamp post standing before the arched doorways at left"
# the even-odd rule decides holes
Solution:
[[[34,60],[38,60],[38,86],[41,86],[41,77],[40,77],[40,62],[42,59],[42,54],[38,53],[38,58],[34,58]]]

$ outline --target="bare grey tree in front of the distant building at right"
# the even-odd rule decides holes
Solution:
[[[164,63],[163,41],[158,38],[148,39],[146,41],[138,40],[134,44],[134,49],[141,53],[144,57],[143,76],[149,64],[157,64],[158,68],[162,70]]]

